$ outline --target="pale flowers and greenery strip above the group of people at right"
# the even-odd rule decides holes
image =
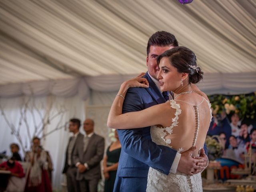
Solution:
[[[212,104],[212,114],[226,114],[234,112],[240,119],[251,118],[256,116],[256,92],[247,95],[212,95],[208,96]]]

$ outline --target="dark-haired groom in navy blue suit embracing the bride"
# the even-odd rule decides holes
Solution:
[[[149,82],[149,88],[129,88],[123,104],[123,113],[140,111],[150,106],[161,104],[168,100],[167,92],[160,92],[156,78],[159,68],[157,56],[178,46],[175,36],[158,31],[148,40],[146,65],[148,72],[144,78]],[[130,130],[118,130],[122,144],[122,151],[118,164],[118,171],[114,192],[143,192],[146,191],[149,166],[168,175],[176,170],[193,174],[207,166],[208,158],[201,150],[198,159],[192,158],[190,150],[179,154],[172,148],[157,145],[151,140],[150,127]]]

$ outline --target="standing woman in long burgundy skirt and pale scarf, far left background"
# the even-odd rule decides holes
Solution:
[[[40,139],[33,138],[32,150],[26,153],[26,161],[30,163],[25,191],[52,192],[52,186],[48,176],[47,152],[40,146]]]

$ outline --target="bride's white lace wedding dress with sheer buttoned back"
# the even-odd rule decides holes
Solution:
[[[170,117],[171,126],[151,126],[152,141],[158,145],[171,147],[178,152],[196,146],[192,156],[199,156],[204,146],[206,133],[212,118],[211,106],[203,96],[199,104],[193,105],[182,100],[170,100],[174,114]],[[202,192],[201,173],[188,176],[181,172],[169,175],[150,167],[147,192]]]

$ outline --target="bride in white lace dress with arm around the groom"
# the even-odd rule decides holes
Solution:
[[[148,88],[148,81],[141,76],[127,80],[122,83],[112,104],[108,127],[133,129],[151,126],[150,134],[156,144],[180,153],[196,146],[198,151],[191,155],[199,156],[212,113],[206,94],[193,85],[202,79],[203,74],[196,64],[196,56],[186,47],[175,47],[158,56],[158,65],[160,89],[172,91],[174,99],[142,111],[122,114],[128,88]],[[177,171],[165,175],[150,167],[146,191],[202,191],[201,174],[189,176]]]

